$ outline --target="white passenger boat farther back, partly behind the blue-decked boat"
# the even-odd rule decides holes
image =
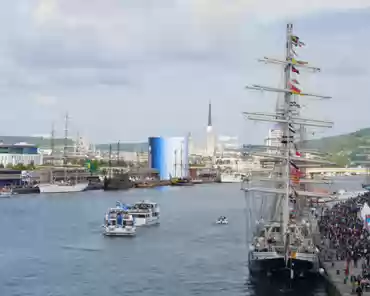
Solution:
[[[135,203],[128,212],[134,217],[136,226],[149,226],[160,223],[160,209],[155,202],[144,200]]]

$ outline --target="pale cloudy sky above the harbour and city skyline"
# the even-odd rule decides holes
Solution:
[[[370,126],[369,0],[0,0],[3,135],[63,134],[93,142],[148,136],[205,139],[208,102],[217,134],[260,143],[272,112],[287,22],[307,46],[299,58],[322,73],[300,75],[306,117],[335,122],[328,136]]]

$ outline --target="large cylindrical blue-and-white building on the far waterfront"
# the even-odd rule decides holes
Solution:
[[[189,175],[187,137],[149,138],[149,167],[159,172],[161,180],[183,178]]]

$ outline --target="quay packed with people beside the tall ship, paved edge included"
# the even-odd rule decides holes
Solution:
[[[370,233],[364,227],[360,211],[369,203],[365,193],[322,209],[319,222],[321,265],[330,283],[329,295],[347,296],[369,289]]]

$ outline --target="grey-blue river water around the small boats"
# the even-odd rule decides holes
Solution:
[[[160,226],[101,235],[117,200],[143,199],[160,204]],[[214,225],[220,215],[230,224]],[[0,295],[283,295],[281,283],[250,282],[245,225],[239,184],[1,199]],[[321,281],[296,290],[325,295]]]

